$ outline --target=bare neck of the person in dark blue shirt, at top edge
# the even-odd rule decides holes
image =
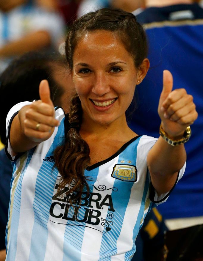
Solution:
[[[164,7],[175,4],[192,4],[193,0],[145,0],[146,7]]]

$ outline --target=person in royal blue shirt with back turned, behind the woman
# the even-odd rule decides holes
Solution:
[[[157,137],[160,120],[156,108],[165,69],[173,74],[175,88],[185,86],[193,95],[199,113],[192,142],[185,145],[187,166],[182,182],[166,204],[158,207],[168,228],[179,229],[203,224],[203,9],[192,0],[145,0],[145,5],[137,19],[146,29],[151,65],[136,88],[139,109],[129,126],[139,129],[140,135]]]

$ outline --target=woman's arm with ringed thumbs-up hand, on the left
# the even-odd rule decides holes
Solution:
[[[25,152],[49,139],[59,125],[46,80],[40,83],[39,93],[41,100],[24,106],[13,119],[9,139],[14,153]]]

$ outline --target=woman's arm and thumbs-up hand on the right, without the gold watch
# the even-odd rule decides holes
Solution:
[[[172,91],[172,87],[172,75],[169,71],[164,71],[158,113],[168,137],[178,140],[182,138],[186,127],[196,120],[198,114],[192,96],[188,95],[185,89]],[[185,160],[184,144],[171,146],[161,136],[159,137],[147,156],[152,185],[158,195],[171,190]]]

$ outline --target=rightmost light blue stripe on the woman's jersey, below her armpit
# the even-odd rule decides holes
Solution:
[[[136,239],[138,232],[139,232],[139,229],[140,229],[140,221],[141,221],[143,214],[144,214],[145,199],[146,199],[148,189],[149,189],[149,176],[148,176],[148,174],[146,174],[146,181],[145,181],[145,186],[144,186],[144,191],[143,191],[143,196],[142,196],[142,202],[141,202],[141,205],[140,205],[138,218],[137,218],[134,230],[133,230],[133,242],[135,242],[135,239]],[[134,254],[135,250],[136,250],[136,246],[135,246],[135,243],[133,243],[132,250],[129,251],[128,253],[126,253],[125,257],[131,257]]]

